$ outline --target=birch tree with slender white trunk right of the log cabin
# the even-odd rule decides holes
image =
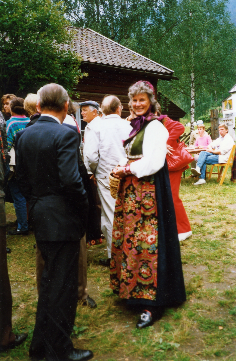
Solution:
[[[236,27],[226,5],[225,0],[180,0],[172,10],[179,25],[158,42],[162,51],[153,57],[179,77],[179,81],[159,82],[158,88],[189,104],[185,111],[191,115],[191,130],[204,95],[212,95],[220,105],[222,95],[236,82]]]

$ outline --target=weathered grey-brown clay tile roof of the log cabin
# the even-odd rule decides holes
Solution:
[[[75,30],[76,34],[73,46],[63,45],[63,47],[67,49],[70,47],[72,51],[82,56],[85,62],[150,71],[170,76],[174,73],[173,70],[106,38],[96,31],[69,26],[68,30],[70,29]]]

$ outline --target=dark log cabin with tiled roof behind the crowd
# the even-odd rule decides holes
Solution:
[[[62,45],[65,49],[75,51],[82,57],[81,71],[88,73],[83,77],[76,88],[79,100],[97,101],[101,105],[102,99],[107,94],[118,96],[123,105],[122,118],[126,118],[130,112],[128,107],[128,88],[139,80],[147,80],[153,84],[156,99],[162,107],[162,114],[167,114],[171,119],[179,121],[185,116],[185,112],[176,104],[157,91],[159,79],[171,81],[174,71],[157,62],[136,53],[121,44],[106,38],[91,29],[80,27],[68,27],[75,33],[71,45]],[[86,124],[82,122],[82,129]]]

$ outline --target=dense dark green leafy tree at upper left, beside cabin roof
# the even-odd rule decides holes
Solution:
[[[82,77],[64,9],[50,0],[0,0],[0,95],[56,82],[70,93]]]

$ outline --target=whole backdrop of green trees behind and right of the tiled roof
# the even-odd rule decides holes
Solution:
[[[58,1],[58,0],[54,0]],[[90,27],[175,71],[158,90],[194,117],[219,106],[236,82],[236,27],[227,0],[64,0]],[[192,94],[191,94],[192,93]]]

